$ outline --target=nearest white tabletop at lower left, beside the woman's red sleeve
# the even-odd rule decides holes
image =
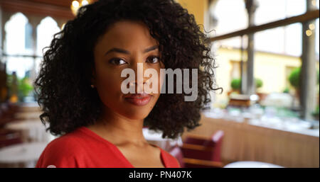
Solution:
[[[0,164],[6,167],[35,167],[47,144],[47,142],[32,142],[1,148]]]

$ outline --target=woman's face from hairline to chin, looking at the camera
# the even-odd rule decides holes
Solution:
[[[105,110],[132,120],[144,119],[149,115],[160,96],[160,69],[164,68],[159,60],[158,45],[146,25],[134,21],[114,23],[97,41],[92,84],[95,85]],[[143,83],[137,83],[138,63],[141,63],[143,70],[151,68],[158,73],[156,93],[137,95],[122,92],[122,81],[128,77],[122,77],[121,73],[127,68],[134,71],[135,79],[131,86],[135,86],[135,93],[145,89],[145,82],[150,77],[144,77]],[[129,84],[127,86],[129,88]]]

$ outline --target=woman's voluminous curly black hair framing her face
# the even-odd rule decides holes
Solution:
[[[99,118],[102,101],[97,90],[90,88],[93,49],[107,28],[122,20],[141,21],[149,28],[159,42],[166,69],[198,69],[196,101],[184,101],[185,93],[162,93],[144,126],[174,139],[185,127],[191,130],[200,125],[200,111],[210,102],[209,91],[217,88],[210,40],[194,16],[174,0],[100,0],[82,6],[75,19],[54,35],[43,55],[34,86],[43,110],[41,122],[49,123],[51,134],[63,135]]]

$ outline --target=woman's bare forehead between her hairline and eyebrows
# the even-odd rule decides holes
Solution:
[[[108,28],[97,42],[97,48],[122,47],[130,49],[156,45],[157,41],[152,38],[149,28],[144,23],[136,21],[119,21]]]

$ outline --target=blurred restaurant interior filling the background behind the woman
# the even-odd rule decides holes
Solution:
[[[319,0],[176,0],[210,37],[223,92],[177,140],[183,167],[319,168]],[[44,47],[89,0],[0,0],[0,167],[34,167],[48,142],[33,80]]]

